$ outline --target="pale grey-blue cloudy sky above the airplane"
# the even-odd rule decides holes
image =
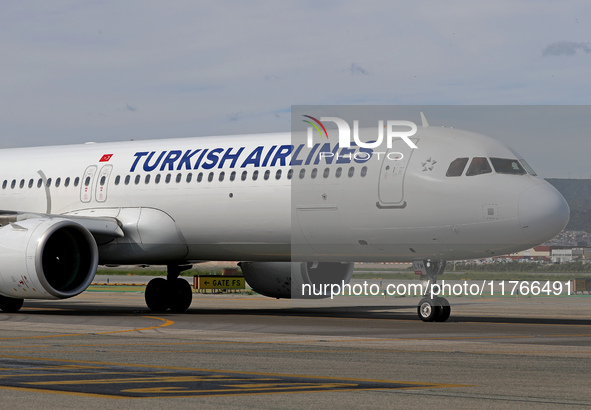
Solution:
[[[590,73],[587,1],[5,0],[0,148],[288,131],[292,105],[419,105],[543,177],[591,178]],[[434,108],[481,105],[495,114]]]

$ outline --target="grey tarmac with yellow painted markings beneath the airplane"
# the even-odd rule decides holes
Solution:
[[[196,293],[187,313],[156,314],[149,278],[129,278],[0,314],[3,406],[591,405],[588,295],[451,297],[445,323],[421,322],[419,297],[390,296]]]

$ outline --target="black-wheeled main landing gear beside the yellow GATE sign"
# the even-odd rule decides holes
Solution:
[[[182,313],[189,309],[193,299],[191,285],[179,278],[181,272],[191,269],[192,265],[168,265],[166,279],[152,279],[146,286],[146,305],[153,312],[170,309]]]

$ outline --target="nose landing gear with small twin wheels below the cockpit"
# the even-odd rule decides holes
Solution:
[[[419,319],[423,322],[445,322],[451,314],[451,306],[447,299],[431,294],[431,285],[437,283],[437,277],[445,270],[445,261],[414,261],[413,267],[415,272],[421,271],[429,280],[425,297],[417,306]]]

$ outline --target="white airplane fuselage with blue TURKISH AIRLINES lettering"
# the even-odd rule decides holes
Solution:
[[[289,133],[7,149],[0,208],[117,218],[125,235],[99,243],[110,264],[466,259],[566,225],[568,206],[543,179],[466,175],[476,157],[520,159],[498,141],[438,127],[413,140],[418,149],[395,144],[367,161],[318,155],[334,141],[310,153]],[[446,176],[464,157],[462,174]]]

